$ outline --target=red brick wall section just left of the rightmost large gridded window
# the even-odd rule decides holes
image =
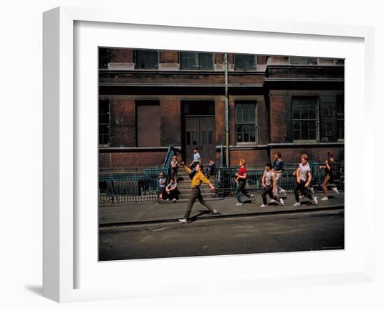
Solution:
[[[284,102],[284,96],[271,96],[269,101],[271,143],[283,143],[287,137],[286,103]]]

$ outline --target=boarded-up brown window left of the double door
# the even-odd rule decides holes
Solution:
[[[160,105],[158,101],[136,101],[138,147],[160,146]]]

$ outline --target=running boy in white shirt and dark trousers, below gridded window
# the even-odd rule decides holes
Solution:
[[[308,199],[311,199],[315,205],[318,205],[318,199],[316,196],[313,196],[309,190],[308,187],[311,184],[312,180],[312,173],[311,173],[311,168],[309,167],[308,164],[308,156],[306,154],[302,155],[302,163],[299,164],[299,167],[295,171],[296,175],[296,188],[295,188],[295,200],[296,203],[293,204],[293,206],[300,206],[300,199],[299,199],[299,192],[307,196]]]

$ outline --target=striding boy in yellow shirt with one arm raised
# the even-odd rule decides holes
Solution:
[[[182,162],[182,166],[184,166],[184,162]],[[191,168],[184,166],[186,173],[193,173]],[[209,212],[211,214],[216,214],[217,210],[212,208],[212,206],[209,205],[206,201],[204,201],[201,191],[200,191],[200,185],[201,182],[206,183],[211,187],[212,190],[214,190],[214,186],[209,182],[209,180],[205,177],[205,175],[202,173],[202,166],[200,163],[195,165],[195,175],[193,175],[192,182],[191,182],[191,188],[192,188],[192,196],[191,199],[189,200],[188,206],[186,206],[186,213],[184,215],[183,219],[179,219],[179,222],[186,223],[189,220],[189,215],[191,215],[191,210],[193,207],[193,204],[195,203],[196,199],[205,207],[209,209]]]

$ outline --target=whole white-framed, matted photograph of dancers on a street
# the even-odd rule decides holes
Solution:
[[[43,29],[44,296],[373,280],[371,28],[56,8]]]

